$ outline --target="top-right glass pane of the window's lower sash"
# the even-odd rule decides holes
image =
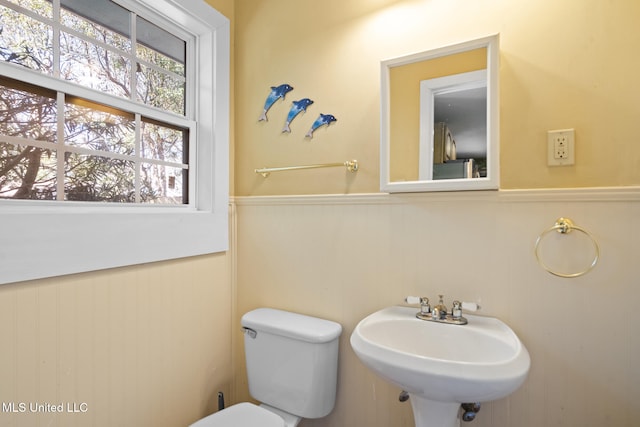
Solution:
[[[146,159],[187,163],[184,158],[186,139],[186,130],[143,121],[141,156]]]

